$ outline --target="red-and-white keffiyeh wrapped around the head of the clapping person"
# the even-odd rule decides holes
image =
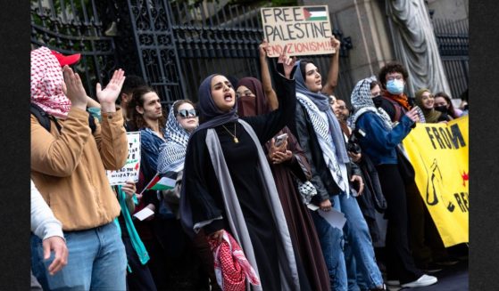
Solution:
[[[31,102],[46,113],[65,119],[71,101],[62,93],[63,82],[61,65],[48,48],[31,51]]]

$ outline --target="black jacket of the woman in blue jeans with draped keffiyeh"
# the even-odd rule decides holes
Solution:
[[[319,205],[321,201],[329,199],[333,195],[338,195],[340,189],[331,175],[324,157],[317,135],[312,127],[312,121],[300,102],[296,102],[295,128],[289,126],[295,131],[295,137],[300,142],[300,146],[310,163],[312,172],[312,184],[317,189],[317,195],[312,198],[312,203]],[[347,165],[349,175],[361,175],[361,170],[353,163]]]

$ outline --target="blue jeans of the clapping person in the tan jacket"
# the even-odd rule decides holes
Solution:
[[[42,240],[31,235],[31,268],[44,290],[126,290],[127,255],[114,222],[90,230],[64,232],[68,264],[51,276]]]

